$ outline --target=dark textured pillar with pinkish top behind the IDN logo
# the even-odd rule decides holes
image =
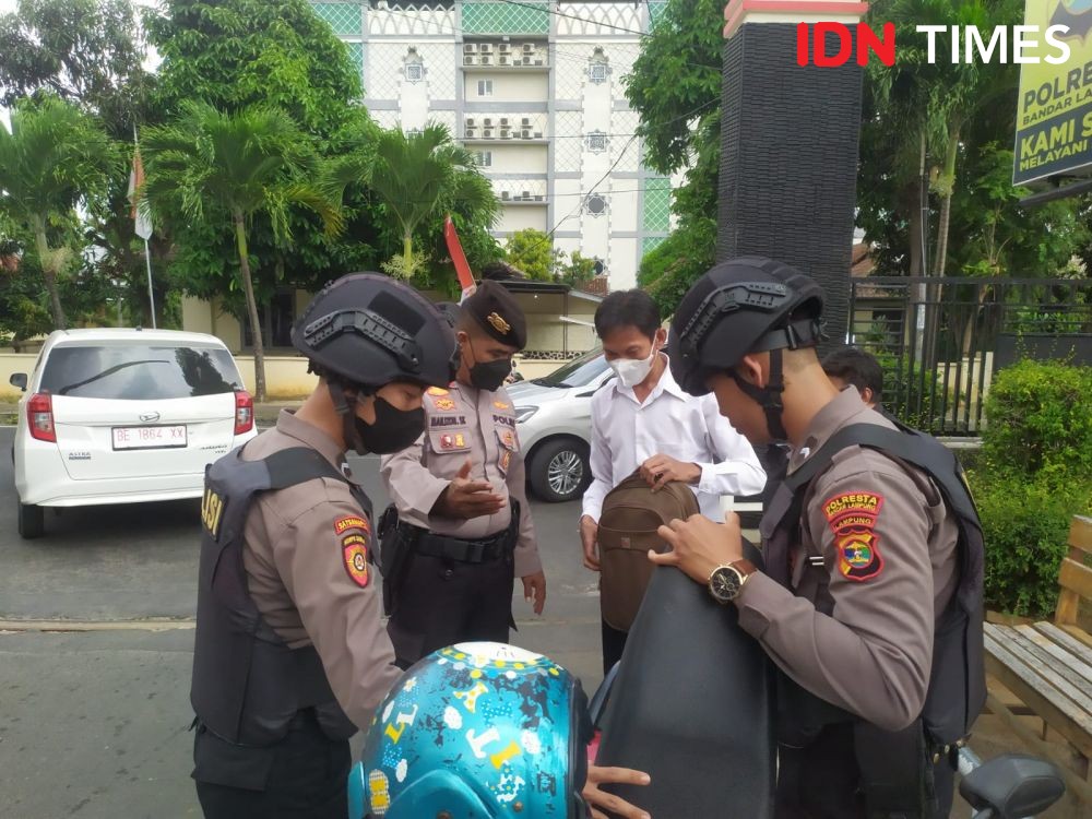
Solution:
[[[796,24],[852,27],[855,0],[732,0],[724,10],[719,261],[750,253],[814,276],[831,341],[848,327],[862,69],[796,64]],[[828,47],[828,54],[836,51]]]

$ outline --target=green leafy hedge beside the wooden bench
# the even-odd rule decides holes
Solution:
[[[1075,514],[1092,512],[1092,368],[1024,360],[994,379],[971,486],[994,607],[1046,616]]]

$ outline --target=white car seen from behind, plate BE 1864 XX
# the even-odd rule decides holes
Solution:
[[[199,498],[205,465],[258,434],[235,359],[203,333],[58,330],[11,383],[26,538],[44,507]]]

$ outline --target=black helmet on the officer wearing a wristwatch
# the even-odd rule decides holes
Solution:
[[[748,256],[721,262],[693,283],[672,320],[672,375],[691,395],[709,392],[707,379],[725,372],[765,410],[770,432],[781,424],[782,349],[812,347],[823,337],[822,289],[783,262]],[[758,388],[734,368],[748,353],[770,355],[770,383]]]

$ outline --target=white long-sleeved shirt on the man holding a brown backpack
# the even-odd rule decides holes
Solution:
[[[583,513],[598,522],[607,492],[653,455],[701,467],[701,478],[690,488],[701,513],[717,522],[724,520],[722,495],[756,495],[765,486],[753,448],[721,415],[716,399],[688,395],[664,367],[643,404],[618,379],[592,399],[592,484]]]

